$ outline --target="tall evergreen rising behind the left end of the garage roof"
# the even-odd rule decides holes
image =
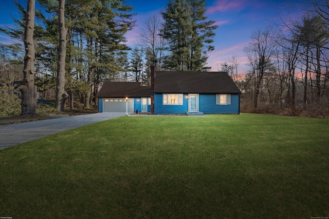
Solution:
[[[88,65],[87,84],[90,88],[85,96],[85,108],[89,108],[92,94],[93,77],[100,78],[99,73],[118,72],[118,52],[127,50],[121,42],[125,42],[124,34],[131,30],[135,24],[131,21],[132,6],[125,5],[124,1],[94,1],[85,18],[81,18],[81,27],[85,31],[87,39],[87,51],[85,53]],[[97,76],[98,75],[98,76]],[[99,81],[95,83],[99,84]]]

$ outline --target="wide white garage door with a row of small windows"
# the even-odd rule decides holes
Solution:
[[[125,98],[104,98],[103,112],[125,112]],[[128,99],[128,112],[134,112],[134,99]]]

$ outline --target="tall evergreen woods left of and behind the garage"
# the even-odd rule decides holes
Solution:
[[[34,44],[35,44],[35,85],[38,86],[39,98],[56,98],[60,78],[58,71],[65,71],[65,87],[60,95],[67,92],[70,107],[73,108],[74,97],[79,98],[86,108],[95,102],[96,92],[105,79],[119,80],[119,71],[127,48],[124,34],[134,27],[132,6],[123,1],[108,0],[39,0],[42,10],[35,11]],[[63,15],[65,21],[59,20],[61,6],[65,2]],[[21,17],[13,18],[17,28],[6,28],[7,33],[16,41],[24,41],[26,11],[15,2]],[[47,15],[47,16],[46,16]],[[59,35],[59,27],[64,27],[64,35]],[[66,51],[60,46],[64,42]],[[19,43],[1,45],[1,58],[4,60],[1,78],[8,77],[22,80],[20,60],[24,59],[24,47]],[[65,69],[59,65],[59,54],[64,57]],[[23,56],[23,57],[22,57]],[[57,86],[56,86],[57,85]],[[57,90],[56,90],[57,91]],[[94,93],[93,93],[94,92]],[[63,110],[63,108],[59,108]]]

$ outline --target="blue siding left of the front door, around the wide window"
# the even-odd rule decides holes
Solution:
[[[163,105],[162,93],[154,94],[154,113],[155,114],[186,114],[189,110],[189,100],[183,94],[183,105]]]

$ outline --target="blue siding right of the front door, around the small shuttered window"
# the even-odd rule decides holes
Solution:
[[[239,113],[239,94],[231,94],[231,105],[216,105],[216,94],[199,94],[199,111],[205,114]]]

